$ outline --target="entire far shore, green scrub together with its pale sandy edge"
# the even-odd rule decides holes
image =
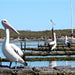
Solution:
[[[0,29],[0,41],[5,39],[5,31]],[[71,29],[66,30],[54,30],[56,33],[57,40],[65,40],[65,36],[68,36],[69,40],[75,39],[75,33],[73,33],[74,38],[71,38]],[[75,32],[75,29],[74,29]],[[21,40],[51,40],[52,31],[19,31],[19,35],[10,32],[10,40],[21,41]]]

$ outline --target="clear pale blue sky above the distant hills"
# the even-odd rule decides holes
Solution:
[[[72,0],[75,29],[75,0]],[[71,29],[71,0],[0,0],[0,21],[7,19],[16,30]],[[0,29],[4,29],[0,23]]]

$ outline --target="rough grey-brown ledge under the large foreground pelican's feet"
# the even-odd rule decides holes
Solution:
[[[0,66],[0,75],[10,74],[10,75],[43,75],[43,74],[55,74],[59,75],[63,73],[63,75],[67,74],[75,74],[75,67],[71,66],[56,66],[56,67],[33,67],[30,66],[18,66],[17,69],[15,67],[9,68],[8,66]]]

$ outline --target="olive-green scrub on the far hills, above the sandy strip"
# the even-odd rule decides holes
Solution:
[[[60,38],[61,36],[71,36],[71,29],[67,29],[67,30],[55,30],[56,35],[58,38]],[[51,38],[52,37],[52,32],[49,30],[46,31],[19,31],[19,35],[14,34],[13,32],[10,32],[11,35],[10,37],[16,39],[16,38],[21,38],[21,39],[39,39],[39,38],[43,38],[46,39]],[[74,29],[74,34],[75,35],[75,29]],[[0,29],[0,38],[5,37],[5,31],[3,29]]]

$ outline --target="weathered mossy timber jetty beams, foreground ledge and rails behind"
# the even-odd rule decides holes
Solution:
[[[51,51],[48,44],[40,45],[38,42],[37,48],[31,47],[35,44],[26,44],[21,42],[21,49],[25,55],[25,61],[75,61],[75,43],[71,43],[71,48],[66,47],[64,43],[57,43],[55,50]],[[62,57],[62,55],[67,55]],[[34,57],[26,57],[34,56]],[[40,56],[40,57],[38,57]],[[41,57],[41,56],[55,56],[55,57]],[[56,57],[59,56],[59,57]],[[6,58],[0,58],[0,62],[9,62]],[[0,75],[75,75],[75,67],[71,66],[56,66],[56,67],[21,67],[15,70],[13,67],[0,66]]]

